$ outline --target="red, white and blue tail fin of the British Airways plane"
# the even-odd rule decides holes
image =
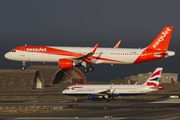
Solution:
[[[163,68],[156,68],[144,85],[154,85],[157,87],[159,85],[159,78],[161,77],[162,70]]]

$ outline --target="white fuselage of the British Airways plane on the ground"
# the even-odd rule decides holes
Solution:
[[[106,91],[111,85],[74,85],[69,86],[67,89],[63,90],[64,95],[72,96],[83,96],[89,94],[98,94]],[[158,88],[153,85],[113,85],[110,93],[113,96],[128,96],[128,95],[139,95],[148,92],[157,91]]]

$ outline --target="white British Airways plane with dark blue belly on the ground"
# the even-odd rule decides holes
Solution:
[[[62,91],[63,95],[88,96],[90,100],[110,99],[114,100],[115,96],[132,96],[141,95],[157,90],[164,89],[164,86],[159,85],[163,68],[157,68],[148,80],[142,85],[72,85]]]

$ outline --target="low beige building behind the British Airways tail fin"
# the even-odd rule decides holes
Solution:
[[[143,84],[145,81],[150,77],[152,73],[144,73],[144,74],[138,74],[138,75],[133,75],[130,77],[126,78],[126,83],[129,83],[129,81],[135,81],[138,82],[138,84]],[[178,73],[162,73],[161,83],[178,83]]]

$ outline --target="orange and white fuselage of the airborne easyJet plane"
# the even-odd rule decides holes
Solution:
[[[51,47],[51,46],[21,46],[5,54],[5,57],[14,61],[26,62],[58,62],[59,59],[73,59],[88,54],[90,47]],[[149,59],[148,55],[141,55],[145,49],[127,48],[97,48],[93,55],[93,64],[133,64],[159,59],[159,56]],[[153,54],[153,53],[152,53]],[[173,54],[174,55],[174,54]],[[147,60],[146,60],[147,59]]]

